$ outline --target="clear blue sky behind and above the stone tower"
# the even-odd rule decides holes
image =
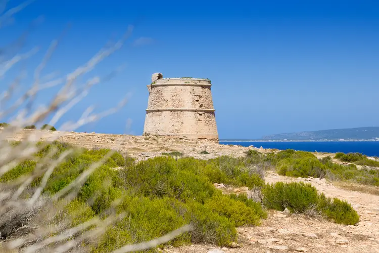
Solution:
[[[36,0],[0,30],[0,45],[40,15],[25,51],[46,50],[71,23],[44,74],[72,71],[135,25],[125,46],[92,73],[125,64],[123,71],[64,119],[91,104],[114,106],[130,93],[128,104],[80,131],[141,134],[154,72],[210,78],[220,138],[379,126],[378,1]]]

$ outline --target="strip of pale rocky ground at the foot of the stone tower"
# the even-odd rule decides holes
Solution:
[[[221,145],[205,140],[181,140],[158,136],[134,136],[134,135],[113,135],[98,133],[76,133],[58,132],[47,130],[22,130],[15,135],[10,135],[8,139],[24,140],[52,140],[57,135],[61,135],[58,140],[72,145],[86,148],[111,148],[126,153],[137,160],[143,160],[154,156],[159,156],[164,152],[177,151],[183,156],[191,156],[200,159],[210,159],[221,155],[231,155],[235,157],[245,156],[245,152],[254,149],[261,153],[276,152],[277,150],[263,149],[257,147],[243,147],[239,145]],[[209,154],[201,154],[207,151]],[[333,155],[329,153],[314,153],[317,157]]]

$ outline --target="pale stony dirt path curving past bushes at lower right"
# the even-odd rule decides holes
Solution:
[[[259,227],[239,228],[240,248],[192,245],[167,252],[379,252],[379,196],[343,190],[319,179],[295,179],[268,172],[266,182],[307,182],[327,197],[350,202],[360,216],[357,226],[344,226],[303,215],[269,212]],[[213,251],[212,251],[213,250]],[[217,251],[219,250],[219,251]]]

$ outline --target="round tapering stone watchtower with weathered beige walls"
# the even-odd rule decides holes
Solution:
[[[218,141],[211,81],[152,76],[144,135]]]

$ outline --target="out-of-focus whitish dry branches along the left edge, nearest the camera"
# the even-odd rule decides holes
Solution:
[[[0,10],[0,15],[2,15],[0,17],[0,28],[31,2],[33,1],[27,1],[9,10],[6,9],[7,1],[3,2],[0,9],[4,9],[5,11],[2,12],[2,10]],[[99,236],[105,233],[109,225],[125,217],[125,213],[117,214],[115,212],[115,207],[119,203],[119,200],[117,200],[114,201],[109,208],[108,213],[110,215],[106,218],[95,217],[73,228],[66,228],[68,222],[66,220],[54,226],[49,225],[51,224],[49,222],[55,219],[56,214],[62,212],[65,204],[77,196],[78,191],[93,171],[104,164],[107,159],[112,156],[114,151],[108,152],[99,161],[90,164],[76,179],[53,195],[44,194],[45,187],[52,173],[57,166],[67,161],[67,159],[72,156],[73,153],[77,153],[78,150],[69,149],[59,153],[56,148],[52,148],[43,157],[36,158],[35,154],[43,151],[50,143],[58,140],[65,133],[74,131],[80,126],[116,112],[126,103],[126,100],[121,101],[114,108],[96,114],[92,113],[91,107],[87,108],[76,122],[65,122],[62,124],[60,127],[62,131],[49,132],[49,141],[43,143],[38,144],[35,140],[39,140],[46,131],[25,132],[23,129],[27,125],[42,123],[48,118],[51,118],[49,125],[55,125],[65,113],[72,109],[89,93],[93,85],[105,81],[108,77],[101,78],[94,75],[89,78],[83,86],[78,87],[76,85],[79,77],[90,73],[100,62],[119,50],[131,32],[132,27],[129,27],[127,32],[118,41],[100,50],[85,64],[77,67],[74,71],[63,77],[51,79],[51,76],[41,76],[41,72],[57,48],[59,41],[54,40],[34,71],[31,87],[9,107],[6,106],[15,95],[15,88],[18,85],[19,79],[22,78],[22,74],[20,73],[9,88],[3,91],[0,96],[0,118],[4,119],[13,115],[13,119],[9,122],[9,125],[0,130],[0,177],[7,175],[22,162],[27,160],[36,162],[33,170],[26,176],[20,176],[14,180],[0,183],[0,251],[75,251],[75,248],[81,242],[97,240]],[[32,57],[37,50],[37,48],[33,48],[24,54],[11,54],[9,58],[3,57],[3,54],[0,55],[0,59],[2,59],[0,61],[0,80],[2,80],[16,64]],[[44,81],[44,79],[49,80]],[[48,105],[33,110],[35,97],[39,92],[59,85],[62,85],[62,88],[53,96]],[[25,136],[20,143],[15,144],[9,142],[9,139],[12,139],[15,135]],[[32,186],[36,180],[39,180],[38,184]],[[126,245],[114,252],[130,252],[132,250],[143,250],[155,247],[190,229],[191,227],[184,226],[161,238],[140,244]]]

